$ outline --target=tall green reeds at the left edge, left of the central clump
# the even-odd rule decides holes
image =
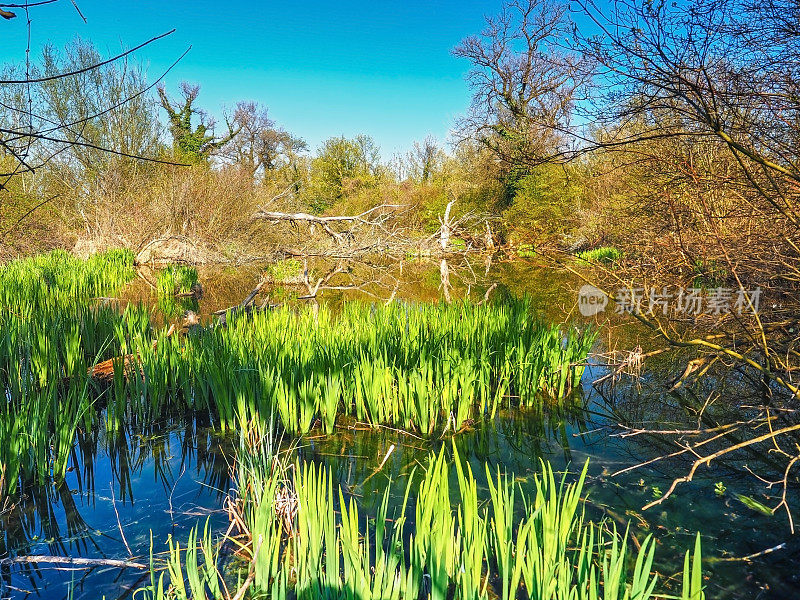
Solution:
[[[94,423],[87,368],[120,354],[141,312],[90,305],[134,278],[133,254],[63,251],[0,266],[0,499],[60,480],[78,427]]]

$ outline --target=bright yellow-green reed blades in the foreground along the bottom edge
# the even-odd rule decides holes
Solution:
[[[249,563],[242,569],[250,573],[251,597],[675,597],[659,589],[651,536],[640,549],[629,549],[627,531],[585,518],[586,466],[567,482],[566,475],[557,479],[542,463],[529,493],[512,475],[493,474],[487,465],[486,504],[469,466],[457,454],[451,464],[442,450],[430,455],[421,478],[412,473],[397,510],[389,510],[387,489],[372,519],[323,467],[299,461],[287,466],[250,444],[241,459],[233,512],[245,541],[232,539]],[[294,502],[288,513],[286,498]],[[681,596],[686,600],[704,597],[699,539],[686,553]],[[183,571],[171,566],[166,576],[168,589],[183,589]]]

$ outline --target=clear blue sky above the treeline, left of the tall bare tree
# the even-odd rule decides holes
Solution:
[[[17,0],[19,2],[19,0]],[[388,158],[414,140],[443,140],[470,92],[465,61],[450,53],[479,33],[500,1],[243,2],[69,0],[30,9],[32,55],[50,41],[77,35],[105,55],[176,28],[140,50],[151,79],[189,45],[165,80],[177,94],[187,80],[202,86],[198,105],[221,115],[223,105],[256,100],[312,149],[324,139],[365,133]],[[25,15],[0,22],[0,62],[25,56]]]

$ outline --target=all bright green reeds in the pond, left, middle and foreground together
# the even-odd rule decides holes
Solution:
[[[198,525],[184,546],[170,538],[166,570],[151,560],[144,597],[230,598],[226,581],[236,573],[238,598],[488,598],[494,590],[511,599],[518,589],[665,597],[654,591],[650,538],[631,571],[627,533],[585,521],[585,468],[576,482],[557,483],[543,463],[531,497],[512,476],[487,472],[489,510],[469,468],[442,450],[421,481],[409,478],[400,513],[389,514],[387,489],[365,529],[355,498],[345,502],[329,473],[290,465],[272,441],[312,427],[330,433],[345,415],[442,438],[499,407],[569,405],[595,333],[546,325],[526,300],[507,300],[349,302],[337,315],[228,311],[224,327],[167,336],[146,306],[92,303],[134,277],[129,251],[86,261],[56,251],[0,267],[0,497],[58,484],[79,429],[126,435],[183,415],[241,432],[238,491],[226,502],[237,533],[215,539]],[[196,273],[171,269],[159,281],[160,292],[181,294]],[[98,381],[93,366],[106,357],[113,372]],[[239,558],[223,566],[221,544]],[[692,575],[699,541],[693,557],[682,597],[695,600],[703,597]]]

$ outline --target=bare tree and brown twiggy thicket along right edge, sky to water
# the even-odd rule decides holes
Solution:
[[[704,406],[696,431],[650,432],[672,439],[669,456],[696,460],[648,506],[712,461],[756,451],[775,459],[776,476],[757,476],[783,487],[774,511],[788,512],[800,462],[800,9],[784,0],[575,5],[599,32],[577,47],[606,92],[578,107],[591,130],[557,130],[622,171],[628,214],[645,227],[627,239],[639,265],[606,281],[640,294],[642,304],[627,307],[632,316],[692,353],[673,390],[713,373],[755,392],[741,403],[746,419],[728,422]],[[717,281],[709,284],[710,272]],[[760,304],[687,320],[648,303],[687,273],[707,278],[709,297],[750,290]]]

